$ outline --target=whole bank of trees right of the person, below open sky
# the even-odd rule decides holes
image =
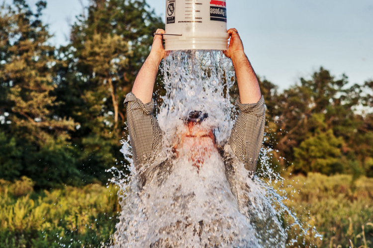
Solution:
[[[292,164],[296,173],[372,175],[371,82],[348,87],[348,78],[335,78],[324,68],[310,79],[278,93],[261,83],[268,107],[265,144],[274,152],[274,165]],[[266,95],[267,94],[267,95]]]

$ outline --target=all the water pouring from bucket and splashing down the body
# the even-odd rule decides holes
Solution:
[[[309,233],[283,204],[283,192],[272,187],[283,179],[270,169],[271,149],[262,148],[262,168],[254,180],[243,164],[238,166],[237,194],[247,204],[239,205],[231,192],[219,152],[236,118],[229,94],[235,81],[231,61],[220,51],[173,52],[163,74],[166,95],[157,119],[165,148],[153,164],[136,172],[129,141],[123,141],[131,174],[111,170],[122,207],[111,248],[272,248],[295,242],[286,235],[293,226]],[[184,138],[181,143],[191,111],[208,114],[200,128],[211,130],[215,140]],[[172,172],[160,174],[160,164]],[[284,215],[292,224],[280,221]]]

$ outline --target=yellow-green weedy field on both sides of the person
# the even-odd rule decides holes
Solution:
[[[115,186],[40,192],[32,186],[27,178],[0,181],[0,248],[98,248],[109,242],[120,211]],[[299,242],[304,239],[308,246],[313,241],[322,248],[373,247],[373,179],[309,174],[287,178],[285,189],[285,203],[324,236],[320,240],[310,234]]]

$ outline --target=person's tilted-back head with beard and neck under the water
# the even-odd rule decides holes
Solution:
[[[185,122],[186,128],[181,136],[180,144],[175,147],[178,154],[187,155],[193,166],[198,169],[204,160],[210,157],[212,150],[216,149],[212,128],[203,125],[207,118],[207,113],[190,112]]]

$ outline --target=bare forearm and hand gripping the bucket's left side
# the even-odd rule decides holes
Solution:
[[[157,34],[164,34],[165,30],[157,29]],[[162,35],[155,35],[153,39],[152,50],[139,73],[132,87],[132,93],[144,104],[152,100],[154,83],[158,72],[158,67],[167,52],[163,47]]]

